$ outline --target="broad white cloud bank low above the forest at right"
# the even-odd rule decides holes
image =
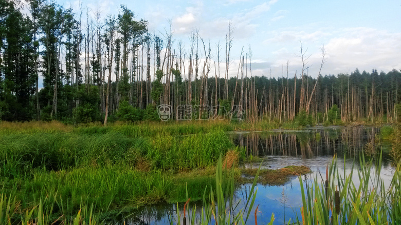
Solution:
[[[286,30],[274,33],[274,36],[266,39],[264,44],[272,48],[271,55],[274,58],[271,68],[274,74],[281,73],[282,65],[286,59],[290,60],[290,73],[300,74],[302,60],[299,55],[302,40],[304,50],[308,49],[308,74],[316,77],[322,60],[321,43],[326,50],[326,63],[321,71],[324,74],[348,73],[358,68],[370,71],[372,68],[378,71],[390,71],[401,68],[401,32],[390,33],[385,30],[372,28],[344,28],[333,30],[330,33],[324,30],[314,32],[299,31],[298,29]],[[266,71],[268,68],[265,68]],[[266,74],[266,73],[265,73]]]

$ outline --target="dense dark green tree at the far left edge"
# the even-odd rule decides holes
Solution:
[[[0,115],[5,120],[29,120],[34,90],[33,24],[14,2],[2,2],[0,7]]]

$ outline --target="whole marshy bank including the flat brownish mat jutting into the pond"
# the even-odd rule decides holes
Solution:
[[[301,132],[295,127],[288,130],[271,124],[263,128],[263,124],[255,127],[228,121],[117,123],[106,128],[56,121],[0,122],[0,127],[2,204],[7,208],[7,202],[14,202],[13,223],[19,218],[37,218],[39,209],[47,212],[43,219],[48,222],[69,223],[77,212],[82,213],[82,221],[96,215],[99,221],[110,222],[147,204],[186,202],[189,197],[202,200],[218,184],[220,156],[222,169],[232,171],[235,187],[255,182],[282,186],[289,177],[312,173],[302,163],[274,169],[241,168],[243,163],[257,164],[262,159],[251,157],[246,152],[249,146],[237,145],[230,137],[253,135],[252,131],[262,131],[262,136],[265,131]],[[309,133],[308,139],[321,138]]]

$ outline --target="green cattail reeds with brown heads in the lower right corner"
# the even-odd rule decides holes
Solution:
[[[315,177],[312,187],[304,188],[299,177],[302,192],[302,221],[297,224],[399,224],[401,203],[399,196],[401,173],[395,171],[390,187],[380,178],[381,155],[376,169],[372,161],[360,157],[360,170],[351,169],[351,174],[341,175],[337,160],[327,170],[325,185]],[[358,180],[353,180],[357,170]],[[344,166],[345,171],[345,166]],[[345,172],[344,172],[345,173]],[[357,185],[359,183],[359,185]],[[327,194],[325,192],[327,190]]]

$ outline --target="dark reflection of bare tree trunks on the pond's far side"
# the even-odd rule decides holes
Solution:
[[[302,132],[264,132],[234,135],[234,143],[246,147],[246,155],[358,156],[378,128],[314,129]]]

